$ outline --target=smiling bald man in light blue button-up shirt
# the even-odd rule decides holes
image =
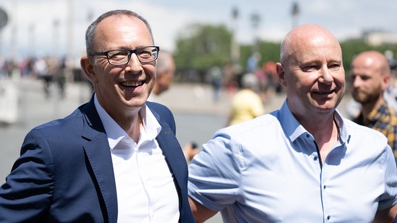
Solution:
[[[276,63],[281,109],[220,129],[189,166],[197,222],[392,222],[397,168],[387,138],[343,118],[342,50],[301,25]]]

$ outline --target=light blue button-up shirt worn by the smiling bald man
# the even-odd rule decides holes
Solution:
[[[371,222],[397,203],[387,138],[335,112],[340,140],[320,164],[287,103],[216,132],[189,166],[189,195],[224,222]]]

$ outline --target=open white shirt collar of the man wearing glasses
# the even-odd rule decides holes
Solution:
[[[128,134],[120,127],[120,125],[117,124],[116,121],[114,121],[114,119],[110,117],[105,109],[103,109],[103,107],[99,104],[96,94],[94,95],[94,105],[96,111],[98,111],[99,118],[101,118],[106,135],[108,136],[110,149],[114,149],[119,142],[128,142],[128,144],[130,144],[130,142],[134,142],[132,138],[128,136]],[[161,125],[154,117],[152,111],[150,111],[146,105],[143,105],[141,109],[139,109],[139,114],[141,115],[143,121],[143,130],[141,131],[139,140],[153,140],[159,135],[161,131]]]

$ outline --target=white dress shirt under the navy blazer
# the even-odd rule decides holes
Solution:
[[[139,111],[143,128],[138,143],[94,98],[108,136],[116,179],[117,222],[178,222],[179,198],[172,173],[156,141],[161,125],[145,105]]]

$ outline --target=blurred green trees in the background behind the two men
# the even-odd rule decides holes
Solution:
[[[230,58],[230,45],[232,32],[225,25],[208,25],[194,23],[187,25],[176,38],[174,58],[179,72],[194,76],[194,81],[205,82],[207,70],[211,67],[223,67],[232,61]],[[343,65],[346,78],[349,78],[349,67],[353,57],[365,50],[377,50],[385,52],[391,50],[397,54],[397,45],[367,45],[362,39],[341,41],[343,52]],[[252,45],[240,45],[240,67],[245,72],[247,59],[252,55]],[[280,42],[269,42],[258,40],[258,52],[261,54],[261,61],[258,66],[267,61],[278,62],[280,60]],[[179,81],[184,78],[177,77]],[[192,79],[192,78],[190,78]]]

